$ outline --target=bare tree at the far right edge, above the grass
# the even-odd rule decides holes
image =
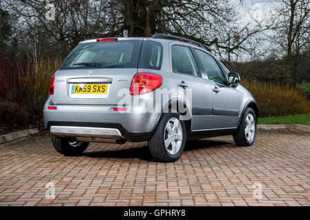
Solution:
[[[272,1],[278,6],[278,21],[273,26],[273,41],[284,52],[287,74],[291,85],[298,83],[298,63],[304,50],[310,45],[310,1],[280,0]]]

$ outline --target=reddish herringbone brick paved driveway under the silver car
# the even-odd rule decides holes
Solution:
[[[231,136],[197,140],[173,164],[153,162],[145,146],[97,143],[65,157],[49,137],[1,144],[0,205],[310,206],[309,135],[260,132],[249,148]],[[49,181],[55,199],[45,198]]]

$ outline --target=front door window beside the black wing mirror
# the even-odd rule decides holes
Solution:
[[[222,75],[222,70],[217,65],[216,61],[209,54],[202,52],[201,50],[195,49],[204,69],[206,70],[206,74],[208,74],[209,79],[213,80],[215,83],[224,84],[224,77]]]

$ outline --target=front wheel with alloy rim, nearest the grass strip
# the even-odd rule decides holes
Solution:
[[[248,107],[242,116],[242,121],[233,140],[237,146],[251,146],[255,142],[258,119],[255,111]],[[249,128],[249,129],[247,129]]]

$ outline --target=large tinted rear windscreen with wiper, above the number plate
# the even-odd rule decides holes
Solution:
[[[142,41],[80,43],[59,69],[137,68]]]

